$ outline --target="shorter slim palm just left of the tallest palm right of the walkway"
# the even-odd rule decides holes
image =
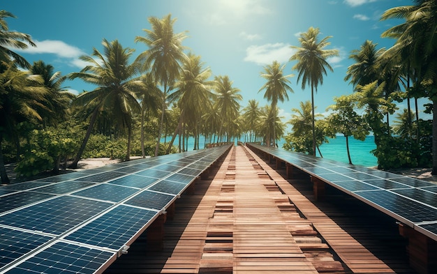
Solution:
[[[288,100],[287,91],[294,92],[288,84],[290,81],[288,78],[292,75],[283,75],[283,68],[286,65],[281,66],[278,61],[273,61],[272,65],[264,67],[264,71],[261,73],[261,77],[266,79],[267,82],[258,91],[265,89],[264,98],[272,102],[272,112],[276,114],[276,105],[278,101],[283,102]],[[276,119],[274,119],[276,121]],[[276,147],[276,126],[273,128],[273,144]],[[267,146],[270,146],[270,140],[267,140]]]

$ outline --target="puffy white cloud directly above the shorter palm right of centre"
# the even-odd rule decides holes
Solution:
[[[246,49],[244,61],[257,63],[258,65],[269,65],[273,61],[286,63],[294,54],[295,50],[284,43],[251,45]]]

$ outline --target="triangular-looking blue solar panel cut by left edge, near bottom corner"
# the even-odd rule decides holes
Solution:
[[[0,268],[50,240],[49,236],[0,227]]]

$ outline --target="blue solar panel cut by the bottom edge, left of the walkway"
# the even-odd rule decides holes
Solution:
[[[57,242],[6,273],[91,274],[116,255],[114,252]]]

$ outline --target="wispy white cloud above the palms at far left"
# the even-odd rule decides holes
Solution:
[[[16,49],[15,51],[27,54],[54,54],[61,61],[77,68],[83,68],[87,65],[87,63],[79,59],[79,56],[85,55],[85,53],[78,47],[68,45],[60,40],[35,40],[34,43],[36,47],[29,46],[27,49]]]

